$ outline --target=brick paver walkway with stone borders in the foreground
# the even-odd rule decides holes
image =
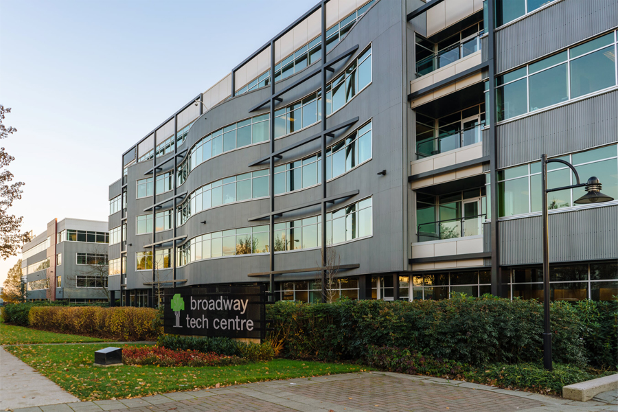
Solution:
[[[74,402],[14,412],[616,412],[618,404],[575,402],[468,382],[387,372],[273,380],[144,398]]]

